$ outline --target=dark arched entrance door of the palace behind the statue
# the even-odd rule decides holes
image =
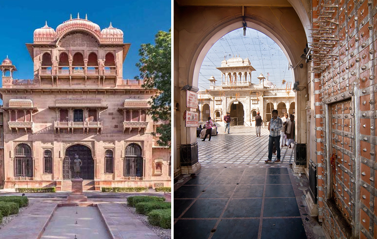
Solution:
[[[81,144],[72,145],[65,151],[65,158],[68,157],[70,159],[70,177],[75,177],[73,160],[75,159],[76,154],[82,161],[79,177],[82,179],[94,179],[94,160],[92,158],[92,151],[87,146]]]

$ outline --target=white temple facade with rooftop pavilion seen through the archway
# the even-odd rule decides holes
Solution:
[[[262,73],[252,79],[255,69],[248,58],[223,60],[217,69],[221,71],[221,81],[212,76],[210,88],[198,91],[199,121],[205,122],[211,117],[223,124],[223,118],[229,112],[232,126],[255,126],[259,112],[267,125],[274,109],[280,117],[284,112],[295,112],[295,93],[291,88],[277,88]],[[219,85],[216,85],[217,81]]]

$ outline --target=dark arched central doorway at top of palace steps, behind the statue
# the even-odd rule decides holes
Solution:
[[[94,161],[92,158],[92,151],[88,146],[82,144],[75,144],[69,146],[65,150],[65,157],[63,160],[63,179],[72,179],[75,176],[73,170],[73,160],[75,155],[79,156],[82,161],[79,177],[82,179],[94,179]]]

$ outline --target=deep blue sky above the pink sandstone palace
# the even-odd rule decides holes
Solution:
[[[33,3],[33,4],[30,4]],[[142,43],[153,43],[159,30],[168,31],[171,27],[171,0],[13,0],[1,1],[0,22],[0,61],[6,55],[17,67],[15,79],[33,78],[33,61],[25,43],[33,43],[33,32],[44,26],[54,28],[69,15],[80,18],[88,15],[88,20],[99,25],[101,30],[109,26],[123,31],[123,41],[131,43],[123,64],[123,78],[134,79],[139,75],[135,64],[139,61],[139,48]]]

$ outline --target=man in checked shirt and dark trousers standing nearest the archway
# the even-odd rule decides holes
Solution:
[[[268,159],[265,162],[272,161],[272,148],[275,142],[276,151],[278,153],[275,162],[280,162],[280,130],[283,127],[283,122],[278,118],[278,110],[272,111],[272,119],[270,121],[270,137],[268,140]]]

